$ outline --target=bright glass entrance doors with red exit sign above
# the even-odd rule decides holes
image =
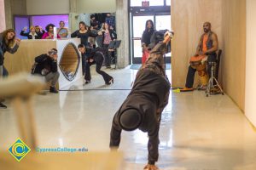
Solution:
[[[171,30],[171,0],[128,0],[130,7],[130,54],[132,64],[142,63],[141,40],[147,20],[153,20],[154,29]],[[147,4],[147,5],[145,5]],[[171,62],[171,54],[166,54]]]

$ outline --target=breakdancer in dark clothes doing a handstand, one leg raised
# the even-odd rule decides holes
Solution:
[[[166,79],[163,55],[171,41],[172,32],[167,31],[163,42],[159,42],[150,52],[146,63],[137,72],[131,93],[113,117],[110,133],[110,148],[117,149],[121,131],[137,128],[148,133],[148,164],[144,169],[157,170],[159,128],[161,113],[166,107],[170,83]]]

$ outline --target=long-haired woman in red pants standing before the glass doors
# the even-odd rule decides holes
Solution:
[[[146,21],[145,31],[143,31],[142,47],[143,47],[143,58],[142,63],[148,59],[149,51],[154,48],[154,23],[152,20]]]

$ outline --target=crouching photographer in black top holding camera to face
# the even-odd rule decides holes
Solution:
[[[35,64],[32,67],[32,74],[38,74],[44,77],[45,82],[51,82],[49,92],[57,94],[55,88],[60,77],[57,67],[58,51],[52,48],[48,54],[41,54],[35,58]]]

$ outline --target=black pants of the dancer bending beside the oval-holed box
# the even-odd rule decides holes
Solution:
[[[102,63],[103,63],[103,57],[101,60],[95,62],[93,61],[92,63],[90,62],[86,62],[85,63],[85,76],[84,76],[84,79],[85,81],[90,81],[91,79],[91,76],[90,76],[90,65],[94,65],[96,64],[96,72],[100,75],[102,75],[105,83],[109,82],[113,77],[109,76],[105,71],[102,71]]]

